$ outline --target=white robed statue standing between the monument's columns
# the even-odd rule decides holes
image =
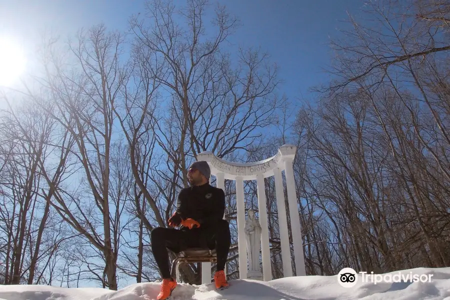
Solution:
[[[262,273],[259,269],[259,247],[261,244],[261,225],[254,216],[254,210],[248,209],[248,217],[245,220],[245,235],[247,239],[248,255],[248,279],[262,280]]]

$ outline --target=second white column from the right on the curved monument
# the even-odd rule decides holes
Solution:
[[[290,257],[289,232],[287,231],[286,205],[284,205],[284,188],[281,178],[281,170],[273,169],[275,177],[276,207],[278,210],[278,226],[281,242],[281,259],[283,261],[283,277],[292,276]]]

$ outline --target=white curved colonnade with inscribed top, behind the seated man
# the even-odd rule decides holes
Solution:
[[[197,160],[205,160],[211,168],[211,174],[216,177],[216,186],[225,190],[225,179],[236,182],[237,204],[237,248],[239,251],[239,278],[247,277],[247,251],[245,236],[245,203],[243,180],[256,180],[259,222],[261,226],[261,256],[262,276],[264,281],[272,279],[270,266],[270,249],[267,225],[267,207],[264,190],[264,178],[275,177],[276,204],[278,210],[278,223],[281,242],[281,259],[283,262],[283,276],[292,276],[289,235],[287,230],[286,207],[284,205],[284,191],[281,172],[284,170],[287,185],[287,198],[289,203],[289,216],[297,276],[305,275],[303,245],[301,241],[301,227],[298,215],[297,196],[292,163],[295,157],[296,146],[284,144],[278,152],[265,160],[252,163],[238,163],[216,157],[210,151],[197,155]],[[211,282],[211,263],[202,262],[202,283]]]

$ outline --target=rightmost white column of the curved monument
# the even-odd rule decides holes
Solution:
[[[294,250],[295,272],[297,276],[305,276],[303,244],[301,240],[301,226],[297,207],[297,193],[295,191],[295,178],[292,168],[292,158],[284,159],[284,175],[286,176],[287,200],[290,213],[290,230]]]

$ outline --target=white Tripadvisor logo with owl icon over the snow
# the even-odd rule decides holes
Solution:
[[[373,272],[367,274],[364,271],[356,273],[351,267],[344,267],[339,271],[337,281],[343,287],[353,287],[358,281],[357,274],[361,274],[361,282],[372,282],[373,284],[380,282],[431,282],[433,276],[433,274],[413,274],[412,271],[409,273],[397,271],[389,274],[374,274]]]

